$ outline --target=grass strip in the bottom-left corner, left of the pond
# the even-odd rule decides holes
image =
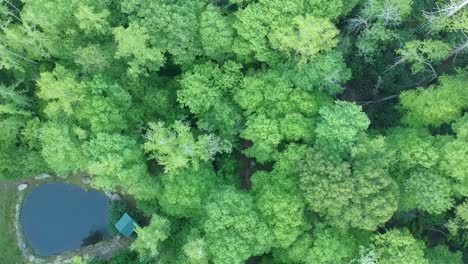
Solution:
[[[0,184],[2,182],[0,181]],[[16,186],[0,191],[0,255],[1,263],[25,263],[18,245],[13,224],[17,201]]]

